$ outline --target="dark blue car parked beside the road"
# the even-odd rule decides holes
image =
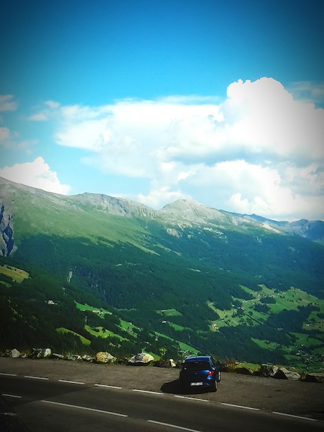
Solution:
[[[185,387],[206,387],[217,391],[217,383],[221,381],[220,364],[210,355],[188,357],[183,363],[179,381]]]

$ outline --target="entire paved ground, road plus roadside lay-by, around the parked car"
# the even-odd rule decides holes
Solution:
[[[32,432],[323,430],[315,420],[323,418],[323,384],[223,373],[217,393],[185,394],[178,375],[147,366],[0,357],[0,393]]]

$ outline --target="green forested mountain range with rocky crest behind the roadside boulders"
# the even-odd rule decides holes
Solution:
[[[323,362],[323,221],[0,179],[0,254],[2,348]]]

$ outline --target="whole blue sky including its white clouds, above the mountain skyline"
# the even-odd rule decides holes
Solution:
[[[0,176],[324,220],[324,2],[15,1]]]

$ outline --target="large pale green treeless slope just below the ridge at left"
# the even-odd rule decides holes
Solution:
[[[118,215],[111,215],[91,195],[78,199],[77,196],[57,198],[43,193],[30,199],[28,193],[17,190],[15,202],[21,209],[15,216],[17,237],[23,235],[28,227],[34,235],[46,233],[49,237],[83,237],[92,244],[108,247],[117,243],[132,244],[145,253],[156,254],[144,245],[145,228],[130,217],[123,217],[121,222]],[[88,216],[91,224],[88,224]],[[100,237],[98,233],[101,233]]]

